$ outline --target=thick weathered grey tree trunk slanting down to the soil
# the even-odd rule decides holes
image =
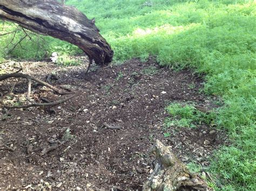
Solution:
[[[0,19],[77,45],[99,65],[112,61],[113,51],[92,20],[56,0],[1,0]]]

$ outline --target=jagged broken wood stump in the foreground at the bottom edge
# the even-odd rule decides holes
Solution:
[[[199,175],[190,173],[169,147],[159,140],[154,145],[153,152],[157,159],[143,190],[209,190],[206,182]]]

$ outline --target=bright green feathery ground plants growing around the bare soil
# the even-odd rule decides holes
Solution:
[[[148,2],[153,6],[143,5],[144,0],[66,1],[90,19],[96,18],[96,25],[114,49],[115,62],[134,57],[146,60],[154,55],[162,66],[192,68],[206,74],[204,93],[221,96],[225,103],[215,111],[214,124],[227,130],[232,142],[215,153],[211,173],[217,185],[223,185],[218,189],[255,190],[255,1]],[[1,37],[2,47],[10,38]],[[49,53],[80,53],[77,47],[63,41],[43,39]],[[45,55],[43,49],[36,51],[37,45],[29,41],[24,41],[23,46],[26,50],[17,47],[9,56],[42,59]],[[6,56],[3,51],[1,54]],[[198,117],[190,106],[185,107],[190,114],[186,120]],[[182,114],[173,115],[179,118]],[[194,124],[193,120],[187,124]]]

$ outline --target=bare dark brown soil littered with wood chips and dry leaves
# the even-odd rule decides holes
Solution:
[[[73,89],[78,95],[51,109],[0,109],[0,189],[140,190],[151,172],[150,148],[156,139],[171,146],[181,161],[196,162],[201,168],[226,143],[225,132],[203,123],[197,128],[173,127],[171,136],[164,136],[169,103],[216,107],[217,98],[200,92],[204,82],[191,70],[160,68],[153,58],[92,66],[86,76],[81,66],[49,62],[9,61],[3,66],[15,72],[15,65],[44,81],[55,73],[54,86]],[[2,81],[0,91],[8,93],[14,83],[9,99],[17,102],[26,93],[25,80]],[[36,101],[40,96],[59,98],[35,84],[32,93]],[[103,123],[121,129],[107,129]],[[44,152],[52,146],[55,149]]]

